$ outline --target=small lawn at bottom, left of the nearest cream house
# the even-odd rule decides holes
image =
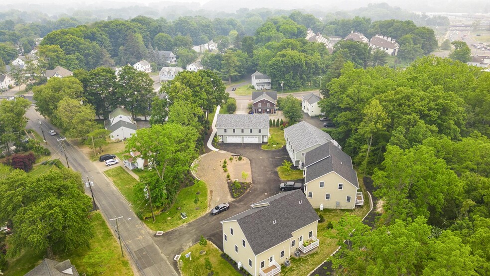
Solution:
[[[201,250],[206,251],[206,254],[200,255]],[[187,253],[191,253],[191,259],[185,258]],[[221,251],[216,249],[211,242],[208,241],[206,246],[196,244],[184,251],[180,256],[182,261],[182,276],[208,275],[209,270],[204,268],[204,261],[209,258],[214,276],[240,276],[240,274],[227,262],[221,258]]]

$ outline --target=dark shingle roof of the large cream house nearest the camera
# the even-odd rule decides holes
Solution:
[[[259,203],[268,203],[268,206],[255,207],[222,221],[238,222],[255,255],[284,242],[292,237],[292,232],[320,219],[301,190],[279,193],[255,204]]]

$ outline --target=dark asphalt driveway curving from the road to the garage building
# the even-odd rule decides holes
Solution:
[[[168,256],[168,261],[177,270],[176,254],[197,243],[200,235],[223,250],[222,226],[220,221],[250,208],[250,204],[279,193],[281,180],[276,168],[289,158],[286,149],[262,150],[260,144],[220,144],[220,150],[241,154],[250,160],[253,186],[241,198],[230,203],[230,210],[216,216],[205,215],[193,222],[154,237],[155,244]]]

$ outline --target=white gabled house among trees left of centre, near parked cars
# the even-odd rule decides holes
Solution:
[[[109,119],[104,121],[104,128],[111,131],[109,137],[112,140],[130,138],[137,130],[131,114],[120,107],[109,113]]]

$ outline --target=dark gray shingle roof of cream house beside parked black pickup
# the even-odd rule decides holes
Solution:
[[[305,167],[305,183],[334,171],[359,189],[351,156],[331,142],[306,152]]]

